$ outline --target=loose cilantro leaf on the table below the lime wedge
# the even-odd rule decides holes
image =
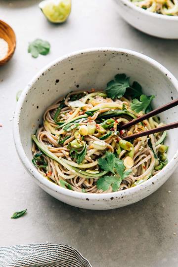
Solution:
[[[37,58],[39,54],[47,55],[50,50],[50,43],[42,39],[35,39],[29,43],[28,52],[31,53],[32,57]]]

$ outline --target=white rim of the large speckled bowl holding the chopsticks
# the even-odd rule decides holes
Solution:
[[[25,87],[23,90],[18,102],[17,102],[17,107],[14,113],[14,119],[13,119],[13,138],[14,138],[14,143],[15,143],[15,148],[16,151],[21,159],[21,162],[25,166],[28,172],[35,178],[35,180],[38,180],[40,184],[43,184],[47,189],[52,190],[56,193],[66,195],[69,197],[74,197],[74,198],[80,198],[80,199],[87,199],[87,200],[100,200],[100,199],[113,199],[114,197],[122,197],[123,195],[131,195],[135,194],[140,190],[146,190],[147,187],[155,186],[156,184],[159,184],[161,181],[161,177],[164,175],[167,175],[167,173],[170,172],[170,170],[173,170],[178,163],[178,150],[172,157],[172,159],[168,162],[168,164],[156,175],[148,179],[147,181],[141,183],[140,185],[137,185],[133,188],[124,190],[124,191],[116,191],[116,192],[110,192],[110,193],[84,193],[84,192],[78,192],[78,191],[72,191],[68,189],[64,189],[49,180],[45,179],[44,176],[42,176],[38,170],[33,166],[31,161],[28,159],[28,157],[25,154],[25,151],[23,149],[22,143],[21,143],[21,138],[20,138],[20,131],[19,131],[19,117],[21,113],[21,109],[23,106],[23,103],[25,101],[25,97],[30,91],[31,87],[33,84],[42,76],[43,73],[45,73],[49,68],[55,67],[57,63],[61,63],[65,60],[68,60],[69,58],[75,58],[78,56],[81,56],[83,54],[90,54],[90,53],[95,53],[95,52],[115,52],[115,53],[124,53],[124,54],[129,54],[132,55],[136,58],[139,58],[143,61],[146,61],[150,65],[156,67],[158,70],[160,70],[163,75],[167,76],[168,79],[171,80],[171,83],[174,85],[176,90],[178,91],[178,80],[176,79],[175,76],[172,75],[170,71],[168,71],[163,65],[158,63],[156,60],[141,54],[139,52],[135,52],[133,50],[125,49],[125,48],[115,48],[115,47],[95,47],[95,48],[87,48],[83,50],[78,50],[72,53],[69,53],[65,56],[59,57],[58,59],[50,62],[47,64],[41,71],[38,72],[37,75],[35,75],[32,80],[28,83],[28,85]],[[171,173],[171,172],[170,172]],[[170,174],[171,175],[171,174]],[[156,190],[156,189],[155,189]]]

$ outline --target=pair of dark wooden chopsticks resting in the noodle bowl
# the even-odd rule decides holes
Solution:
[[[153,110],[153,111],[151,111],[151,112],[149,112],[147,114],[144,114],[144,115],[142,115],[142,116],[140,116],[138,118],[135,118],[135,119],[131,120],[128,123],[123,124],[119,128],[119,130],[131,127],[131,126],[135,125],[138,122],[141,122],[141,121],[143,121],[143,120],[145,120],[147,118],[150,118],[150,117],[155,116],[157,114],[160,114],[160,113],[162,113],[164,111],[172,109],[172,108],[174,108],[176,106],[178,106],[178,99],[173,100],[172,102],[170,102],[170,103],[168,103],[166,105],[163,105],[160,108],[157,108],[157,109],[155,109],[155,110]],[[146,136],[146,135],[150,135],[150,134],[154,134],[154,133],[159,133],[159,132],[171,130],[171,129],[174,129],[174,128],[178,128],[178,121],[177,122],[172,122],[172,123],[169,123],[169,124],[166,124],[166,125],[163,125],[163,126],[151,129],[151,130],[146,130],[146,131],[143,131],[143,132],[140,132],[140,133],[135,133],[135,134],[132,134],[132,135],[128,135],[126,137],[123,137],[122,139],[129,140],[129,139],[133,139],[133,138],[138,138],[138,137],[142,137],[142,136]]]

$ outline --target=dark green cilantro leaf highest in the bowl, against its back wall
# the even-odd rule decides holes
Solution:
[[[129,77],[125,74],[117,74],[114,77],[114,80],[107,83],[105,91],[107,96],[112,99],[121,98],[129,86]]]

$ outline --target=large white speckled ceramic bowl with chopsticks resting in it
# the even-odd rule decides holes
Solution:
[[[134,188],[113,193],[80,193],[61,188],[43,177],[32,164],[31,135],[42,116],[60,96],[71,90],[104,88],[118,73],[126,73],[131,81],[138,81],[148,95],[154,94],[154,107],[178,97],[177,79],[153,59],[134,51],[118,48],[96,48],[72,53],[45,67],[24,89],[14,118],[14,141],[19,157],[46,192],[70,205],[86,209],[114,209],[123,207],[156,191],[170,177],[178,162],[178,130],[169,131],[167,143],[168,165],[157,175]],[[178,108],[161,114],[166,123],[177,121]]]

